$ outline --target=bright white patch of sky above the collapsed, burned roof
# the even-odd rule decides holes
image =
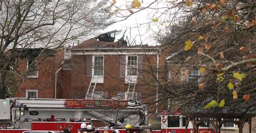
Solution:
[[[147,0],[147,1],[144,0],[144,2],[142,3],[142,7],[149,5],[151,2],[153,2],[153,1],[152,0]],[[117,0],[117,3],[115,5],[118,6],[118,8],[120,8],[120,9],[125,9],[126,1]],[[159,3],[155,3],[151,7],[159,8],[159,6],[160,6]],[[161,6],[163,6],[163,5],[161,5]],[[116,8],[113,8],[113,10],[115,10],[115,9]],[[133,11],[136,11],[136,9]],[[157,44],[157,41],[156,41],[156,33],[155,32],[159,31],[159,27],[163,28],[163,27],[165,27],[165,25],[164,25],[163,21],[161,21],[161,17],[158,16],[159,14],[157,14],[156,12],[157,12],[157,10],[146,9],[146,10],[142,10],[140,12],[134,13],[131,17],[127,18],[126,20],[119,21],[118,23],[115,23],[115,24],[107,27],[104,30],[104,32],[113,31],[115,29],[117,31],[122,31],[122,32],[119,32],[118,35],[116,35],[116,39],[119,39],[122,37],[125,29],[127,28],[125,35],[128,35],[129,40],[130,40],[130,27],[131,27],[131,40],[133,40],[135,38],[137,40],[137,42],[136,42],[137,45],[139,45],[141,41],[143,44],[159,45],[159,44]],[[124,14],[124,13],[127,13],[127,11],[120,12],[120,13]],[[159,21],[156,23],[152,22],[151,19],[156,18],[156,17],[158,17]],[[123,19],[123,18],[120,18],[120,19]],[[139,26],[139,27],[137,27],[137,26]]]

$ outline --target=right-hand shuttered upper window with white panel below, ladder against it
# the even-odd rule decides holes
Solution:
[[[125,80],[126,82],[136,82],[138,75],[138,56],[126,56]]]

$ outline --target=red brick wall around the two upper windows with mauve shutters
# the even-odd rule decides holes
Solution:
[[[116,97],[117,93],[127,91],[125,78],[119,77],[119,55],[104,55],[104,83],[98,83],[95,91],[108,91],[108,97]],[[91,77],[86,77],[86,56],[73,55],[71,69],[71,88],[66,90],[62,98],[85,98]],[[143,94],[143,102],[152,102],[156,95],[156,67],[157,55],[143,55],[143,78],[139,78],[137,91]],[[153,69],[153,71],[151,70]],[[154,104],[152,105],[153,108]]]

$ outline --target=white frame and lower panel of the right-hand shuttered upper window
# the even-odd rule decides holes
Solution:
[[[128,76],[128,67],[129,67],[129,64],[128,64],[128,57],[129,56],[136,56],[137,57],[137,75],[136,76]],[[137,76],[138,76],[138,55],[126,55],[125,56],[125,82],[126,83],[136,83],[137,82]]]

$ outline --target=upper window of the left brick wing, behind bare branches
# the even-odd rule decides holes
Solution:
[[[34,62],[35,61],[35,62]],[[31,65],[34,62],[33,65]],[[26,63],[26,69],[29,70],[29,75],[28,77],[38,77],[38,67],[37,67],[37,60],[35,58],[28,58],[27,63]]]

